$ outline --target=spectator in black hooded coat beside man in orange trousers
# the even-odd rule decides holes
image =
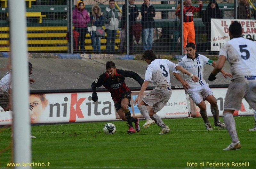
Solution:
[[[220,8],[215,0],[211,0],[204,11],[202,21],[206,27],[207,41],[211,43],[211,18],[222,19]],[[211,44],[209,45],[211,46]],[[210,50],[210,49],[209,49]],[[212,54],[211,52],[209,53]]]

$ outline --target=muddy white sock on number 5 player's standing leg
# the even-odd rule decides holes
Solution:
[[[236,122],[232,113],[225,113],[223,115],[224,122],[226,124],[226,128],[228,130],[229,136],[232,139],[232,143],[238,142],[238,136],[236,133]]]

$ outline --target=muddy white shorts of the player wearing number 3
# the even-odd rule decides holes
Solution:
[[[170,89],[170,88],[169,88]],[[149,106],[152,106],[154,112],[161,110],[168,100],[171,98],[172,90],[165,90],[162,88],[154,88],[148,92],[144,97],[143,101]]]

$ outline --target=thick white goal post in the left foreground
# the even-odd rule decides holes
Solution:
[[[12,70],[13,159],[31,163],[26,2],[8,0]],[[20,168],[20,167],[15,167]],[[21,168],[31,168],[23,166]]]

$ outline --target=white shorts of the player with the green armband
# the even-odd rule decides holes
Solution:
[[[212,90],[210,89],[208,84],[196,87],[189,88],[186,90],[189,97],[196,103],[196,106],[209,95],[213,95]]]

